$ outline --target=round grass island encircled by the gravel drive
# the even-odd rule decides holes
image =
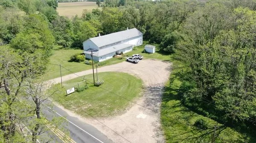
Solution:
[[[142,80],[127,73],[118,72],[105,72],[98,73],[99,79],[104,79],[105,83],[100,87],[108,89],[109,91],[116,93],[129,100],[134,100],[140,96],[142,91]],[[93,75],[86,75],[84,79],[93,81]],[[72,79],[63,83],[65,89],[71,87],[77,87],[77,83],[83,81],[81,78]],[[79,84],[79,87],[85,85],[85,82]],[[117,115],[129,105],[129,101],[124,100],[112,93],[100,88],[94,87],[93,84],[87,84],[89,89],[80,93],[72,93],[70,95],[55,95],[52,97],[54,101],[57,101],[66,109],[69,109],[81,116],[88,117],[83,112],[86,111],[90,115],[96,117],[108,117],[111,115]],[[67,101],[70,101],[68,103]]]

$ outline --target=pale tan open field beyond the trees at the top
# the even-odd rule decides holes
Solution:
[[[58,14],[61,16],[73,17],[76,14],[81,17],[84,9],[91,11],[92,9],[100,8],[96,5],[96,2],[70,2],[70,3],[58,3]]]

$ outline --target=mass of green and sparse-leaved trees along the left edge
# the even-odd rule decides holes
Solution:
[[[42,111],[43,102],[61,91],[46,90],[42,79],[55,44],[49,20],[57,6],[55,0],[0,1],[1,143],[48,143],[56,140],[51,129],[64,128],[61,118],[47,120]]]

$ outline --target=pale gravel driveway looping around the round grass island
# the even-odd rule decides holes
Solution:
[[[171,64],[168,62],[161,62],[158,60],[141,60],[138,64],[130,62],[122,62],[105,67],[98,68],[98,72],[116,71],[129,73],[138,76],[143,80],[145,86],[145,93],[137,104],[143,105],[150,109],[160,112],[160,105],[163,93],[164,83],[168,80],[171,70]],[[85,70],[75,74],[70,74],[62,77],[62,81],[77,78],[91,74],[92,70]],[[78,75],[78,76],[77,76]],[[59,83],[60,78],[50,80],[51,83]],[[58,107],[61,107],[58,105]],[[64,109],[63,107],[61,107]],[[70,115],[79,117],[72,112]],[[106,126],[92,120],[79,117],[82,121],[90,123],[96,127],[103,134],[108,136],[115,143],[128,143],[122,137],[116,135]],[[130,109],[123,115],[118,115],[111,118],[100,119],[102,123],[113,129],[118,134],[128,139],[131,143],[164,143],[163,132],[160,126],[160,114],[152,112],[148,109],[140,107],[139,105],[132,105]]]

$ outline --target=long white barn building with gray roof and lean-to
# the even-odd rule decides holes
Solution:
[[[111,59],[116,53],[127,53],[134,46],[142,45],[143,34],[136,28],[119,31],[116,33],[93,37],[83,42],[84,55],[91,59],[93,51],[93,60],[102,62]]]

